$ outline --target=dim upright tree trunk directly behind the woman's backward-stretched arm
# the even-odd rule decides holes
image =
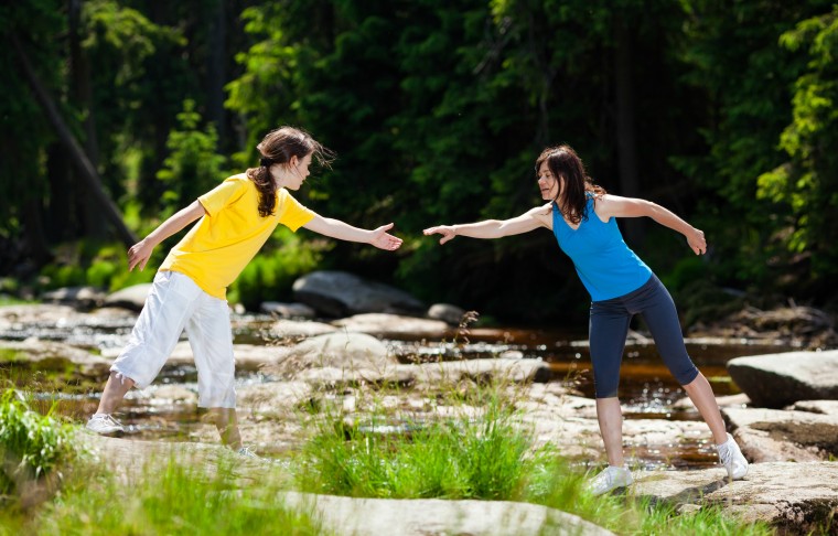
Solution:
[[[637,179],[637,135],[635,128],[635,98],[632,81],[632,58],[634,44],[623,21],[615,21],[614,28],[614,93],[616,97],[616,151],[620,172],[620,194],[626,197],[640,196]],[[632,243],[643,240],[642,222],[625,218],[626,238]]]

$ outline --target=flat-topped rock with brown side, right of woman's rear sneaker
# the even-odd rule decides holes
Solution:
[[[838,416],[764,408],[723,408],[750,461],[818,461],[838,455]]]

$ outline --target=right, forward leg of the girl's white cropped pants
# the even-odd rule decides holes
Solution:
[[[235,408],[236,365],[229,307],[225,300],[205,292],[198,302],[185,326],[197,368],[197,405],[202,408]]]

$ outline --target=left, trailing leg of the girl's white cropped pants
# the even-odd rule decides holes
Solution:
[[[158,272],[128,344],[110,369],[132,379],[140,389],[148,387],[178,344],[200,292],[182,274]]]

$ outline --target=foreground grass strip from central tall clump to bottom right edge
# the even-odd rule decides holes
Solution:
[[[345,416],[316,420],[316,433],[296,468],[298,485],[312,493],[379,499],[481,499],[541,504],[625,535],[771,535],[762,523],[745,524],[705,507],[679,515],[625,495],[594,497],[584,491],[583,469],[533,438],[515,411],[516,389],[501,382],[439,394],[447,407],[480,407],[461,417],[400,418],[407,433],[383,433],[393,412],[375,401],[373,419],[347,424]],[[453,395],[452,395],[453,394]],[[378,407],[379,410],[375,408]],[[376,432],[376,429],[379,431]]]

